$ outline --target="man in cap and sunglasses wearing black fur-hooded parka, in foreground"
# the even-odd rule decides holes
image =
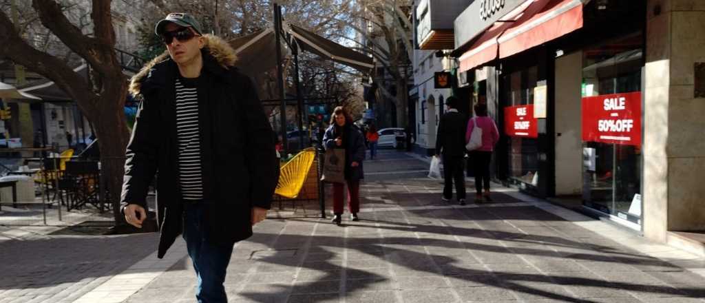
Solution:
[[[227,302],[223,282],[235,242],[264,220],[276,187],[274,133],[255,87],[226,42],[170,13],[155,27],[167,51],[137,73],[142,99],[125,156],[121,202],[137,228],[157,176],[157,256],[181,233],[197,275],[198,302]]]

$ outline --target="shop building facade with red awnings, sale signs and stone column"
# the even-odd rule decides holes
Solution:
[[[496,119],[497,180],[658,242],[705,230],[705,1],[476,0],[453,28],[453,93]]]

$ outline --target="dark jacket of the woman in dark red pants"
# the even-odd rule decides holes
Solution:
[[[345,135],[343,135],[343,146],[336,146],[336,125],[329,126],[326,134],[323,136],[323,144],[327,149],[344,148],[345,149],[345,180],[360,180],[364,178],[364,170],[362,169],[362,161],[364,154],[367,151],[364,147],[364,137],[362,131],[355,125],[347,124],[344,127]],[[360,166],[350,166],[353,161],[360,163]]]

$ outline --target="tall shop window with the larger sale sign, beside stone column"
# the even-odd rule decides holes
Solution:
[[[583,111],[583,128],[589,129],[586,123],[596,119],[589,115],[605,116],[600,119],[608,122],[635,118],[640,121],[643,39],[643,35],[638,33],[584,49],[582,102],[584,109],[585,106],[590,108]],[[609,102],[601,101],[603,99],[613,99],[615,103],[606,104]],[[622,115],[627,116],[620,117]],[[617,136],[616,140],[602,140],[608,137],[603,135],[604,129],[591,130],[597,135],[587,139],[583,137],[583,203],[603,213],[640,224],[640,123],[637,128],[631,129],[635,131],[620,130],[623,135]]]

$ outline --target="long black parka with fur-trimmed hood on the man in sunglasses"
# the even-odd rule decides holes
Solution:
[[[252,206],[269,209],[277,183],[274,135],[250,78],[233,67],[233,49],[206,35],[199,78],[199,128],[204,202],[211,241],[234,243],[252,235]],[[161,258],[183,231],[178,180],[176,91],[178,67],[168,54],[133,77],[141,98],[125,153],[121,202],[147,208],[147,189],[157,174],[157,222]]]

